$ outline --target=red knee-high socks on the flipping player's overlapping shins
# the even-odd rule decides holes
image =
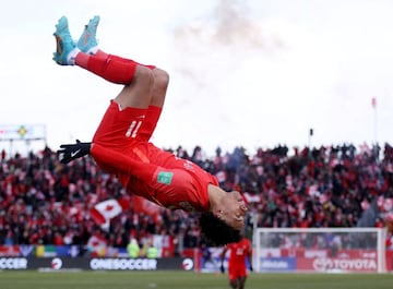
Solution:
[[[136,65],[139,65],[133,60],[120,60],[111,55],[99,53],[98,56],[91,56],[83,52],[78,53],[75,64],[117,84],[131,83]]]

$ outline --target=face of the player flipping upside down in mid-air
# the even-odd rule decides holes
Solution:
[[[245,226],[245,217],[247,213],[245,200],[237,191],[233,191],[227,194],[228,195],[224,201],[225,212],[223,213],[223,219],[235,229],[241,230]]]

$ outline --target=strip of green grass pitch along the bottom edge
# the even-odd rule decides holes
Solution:
[[[189,272],[0,272],[1,289],[229,289],[227,275]],[[392,289],[392,274],[255,274],[246,289]]]

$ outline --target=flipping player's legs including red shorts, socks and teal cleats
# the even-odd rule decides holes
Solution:
[[[96,40],[98,23],[99,17],[93,17],[75,44],[72,40],[67,17],[61,17],[55,32],[57,51],[53,60],[61,65],[76,64],[105,80],[124,85],[114,99],[118,106],[110,105],[96,131],[94,142],[99,141],[102,144],[121,147],[121,145],[127,145],[127,140],[130,139],[119,137],[119,135],[127,135],[122,131],[130,129],[132,129],[130,135],[133,139],[147,141],[162,112],[169,81],[168,74],[154,65],[144,65],[98,49]],[[133,109],[131,118],[123,122],[114,122],[112,118],[117,115],[114,111],[123,110],[127,107]],[[116,118],[119,117],[120,115],[117,115]],[[134,127],[132,127],[133,122],[136,123]]]

